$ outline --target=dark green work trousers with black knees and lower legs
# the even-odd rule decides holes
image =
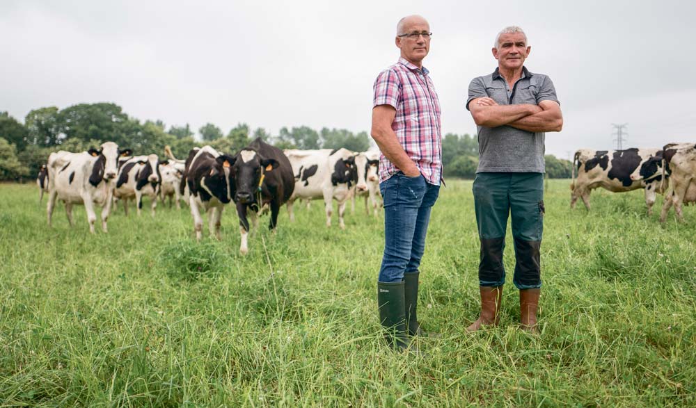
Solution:
[[[481,241],[480,286],[505,284],[505,231],[512,215],[515,246],[513,283],[519,289],[541,287],[539,250],[544,229],[543,173],[477,173],[473,184],[476,224]]]

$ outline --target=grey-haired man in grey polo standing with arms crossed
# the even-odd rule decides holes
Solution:
[[[473,183],[481,243],[480,317],[469,332],[498,324],[505,284],[503,250],[507,217],[512,218],[515,271],[522,328],[536,332],[541,291],[539,251],[544,222],[544,132],[563,126],[553,82],[523,65],[531,48],[521,28],[496,37],[498,67],[469,85],[466,108],[478,127],[479,165]]]

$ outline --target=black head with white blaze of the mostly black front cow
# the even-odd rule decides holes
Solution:
[[[253,149],[242,149],[235,156],[232,174],[235,177],[237,194],[235,201],[241,204],[257,204],[256,195],[260,191],[263,179],[268,172],[278,168],[275,158],[261,156]]]

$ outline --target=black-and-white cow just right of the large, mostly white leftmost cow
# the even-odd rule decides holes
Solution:
[[[126,215],[128,215],[128,200],[135,198],[136,209],[140,216],[143,208],[143,195],[147,195],[152,202],[150,209],[154,217],[160,183],[161,174],[159,173],[157,154],[135,156],[120,164],[113,197],[123,200],[123,211]]]

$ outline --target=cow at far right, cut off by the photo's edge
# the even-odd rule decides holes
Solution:
[[[683,221],[682,204],[696,202],[696,145],[670,143],[663,148],[664,171],[670,171],[671,190],[665,195],[660,222],[665,222],[670,207],[674,206],[677,218]]]

